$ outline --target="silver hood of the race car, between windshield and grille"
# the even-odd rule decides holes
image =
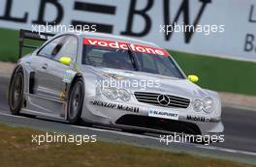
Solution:
[[[119,84],[117,87],[123,87],[132,92],[164,93],[166,95],[189,98],[209,97],[207,91],[188,79],[179,79],[142,71],[95,67],[90,67],[90,70],[102,79],[116,81],[116,84]],[[130,85],[127,83],[130,83]]]

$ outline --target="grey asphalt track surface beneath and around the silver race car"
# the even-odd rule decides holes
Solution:
[[[177,153],[196,153],[206,156],[227,158],[245,163],[256,164],[256,111],[232,107],[222,108],[225,126],[225,142],[210,146],[191,143],[160,143],[157,134],[133,134],[119,129],[84,125],[69,125],[62,121],[46,118],[12,116],[7,104],[9,78],[0,76],[0,124],[28,126],[50,132],[72,134],[96,134],[97,140],[122,142],[147,148],[161,149]]]

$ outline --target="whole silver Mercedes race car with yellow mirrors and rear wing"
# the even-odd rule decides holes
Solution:
[[[29,39],[46,42],[36,47],[26,43]],[[154,43],[20,30],[19,47],[9,88],[12,114],[164,133],[224,130],[217,93],[192,83],[198,77],[186,77]],[[35,50],[21,58],[24,47]]]

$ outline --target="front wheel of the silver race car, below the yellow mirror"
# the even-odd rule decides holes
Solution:
[[[78,78],[71,88],[70,96],[68,99],[67,118],[70,124],[80,124],[80,115],[82,112],[83,98],[83,82],[81,78]]]

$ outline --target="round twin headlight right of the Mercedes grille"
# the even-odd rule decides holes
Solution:
[[[193,108],[196,112],[205,111],[210,113],[213,109],[213,100],[210,97],[206,97],[203,100],[196,99],[193,102]]]

